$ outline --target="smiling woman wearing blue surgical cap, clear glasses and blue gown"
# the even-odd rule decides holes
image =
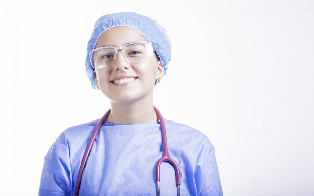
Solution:
[[[163,146],[153,88],[171,60],[168,36],[156,21],[133,12],[101,16],[94,27],[86,73],[92,87],[110,99],[111,108],[91,148],[79,195],[156,195],[155,169]],[[181,195],[223,195],[208,137],[163,119],[169,154],[181,174]],[[86,146],[99,121],[69,127],[58,136],[45,156],[38,195],[74,195]],[[160,166],[159,186],[161,195],[176,194],[169,162]]]

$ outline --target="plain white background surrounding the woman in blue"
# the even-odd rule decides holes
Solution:
[[[86,47],[101,15],[125,11],[166,29],[154,105],[208,136],[224,195],[314,195],[314,3],[284,0],[1,3],[1,195],[37,195],[56,137],[110,108]]]

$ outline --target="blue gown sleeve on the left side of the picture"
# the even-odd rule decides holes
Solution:
[[[71,167],[68,142],[61,133],[44,158],[38,196],[70,196]]]

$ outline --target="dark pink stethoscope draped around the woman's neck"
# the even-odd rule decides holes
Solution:
[[[78,179],[76,181],[76,186],[75,186],[75,196],[78,196],[78,191],[79,188],[81,186],[81,179],[82,179],[82,174],[83,174],[83,170],[84,167],[86,166],[86,162],[87,162],[87,158],[89,156],[90,150],[92,149],[92,146],[94,144],[96,135],[98,133],[98,131],[100,130],[101,125],[104,123],[105,119],[107,119],[107,117],[110,114],[110,110],[109,109],[106,114],[99,120],[98,124],[96,125],[96,128],[93,132],[92,137],[89,140],[89,143],[87,145],[87,149],[85,151],[84,157],[83,157],[83,161],[81,164],[81,167],[79,168],[79,172],[78,172]],[[177,186],[177,196],[180,196],[180,171],[179,171],[179,167],[177,166],[176,162],[170,157],[169,152],[168,152],[168,146],[167,146],[167,136],[166,136],[166,126],[165,126],[165,121],[164,118],[162,117],[162,115],[160,114],[159,110],[154,106],[154,110],[160,120],[160,124],[161,124],[161,136],[162,136],[162,143],[164,146],[164,152],[162,157],[158,160],[157,165],[156,165],[156,181],[157,181],[157,195],[159,195],[159,181],[160,181],[160,164],[164,161],[168,161],[172,164],[172,166],[175,168],[175,172],[176,172],[176,186]]]

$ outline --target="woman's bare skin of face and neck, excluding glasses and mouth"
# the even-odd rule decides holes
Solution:
[[[137,30],[119,26],[106,30],[95,48],[104,45],[122,46],[129,42],[148,42]],[[110,100],[111,112],[106,121],[114,124],[150,124],[159,122],[153,106],[155,78],[164,76],[161,61],[156,55],[142,64],[130,64],[122,51],[118,51],[113,65],[95,69],[95,84]],[[136,76],[138,79],[125,86],[115,86],[110,81],[120,75]],[[167,120],[164,118],[164,120]]]

